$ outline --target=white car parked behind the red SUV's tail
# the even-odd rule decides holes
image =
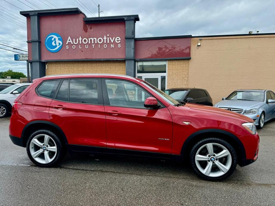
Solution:
[[[11,112],[12,104],[31,83],[11,85],[0,91],[0,118],[6,117]]]

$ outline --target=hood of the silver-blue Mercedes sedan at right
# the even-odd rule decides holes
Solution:
[[[223,100],[217,104],[216,107],[231,107],[236,109],[243,109],[246,110],[248,108],[260,108],[263,106],[264,102],[255,102],[255,101],[247,101],[247,100]]]

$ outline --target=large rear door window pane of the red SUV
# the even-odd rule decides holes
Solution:
[[[69,94],[70,102],[98,104],[98,80],[72,79]]]

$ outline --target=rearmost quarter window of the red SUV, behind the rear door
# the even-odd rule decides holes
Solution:
[[[60,80],[44,81],[39,85],[36,91],[40,96],[53,98],[59,82]]]

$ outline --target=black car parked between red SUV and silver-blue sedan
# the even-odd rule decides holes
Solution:
[[[172,88],[166,89],[165,93],[178,102],[188,102],[213,106],[212,98],[208,91],[198,88]]]

